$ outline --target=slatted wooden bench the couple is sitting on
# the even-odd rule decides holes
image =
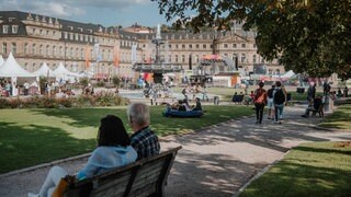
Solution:
[[[66,188],[64,196],[165,196],[167,177],[180,149],[181,147],[177,147],[126,166],[77,181]]]

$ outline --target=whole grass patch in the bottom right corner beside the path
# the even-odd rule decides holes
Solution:
[[[313,142],[294,148],[253,181],[246,196],[351,196],[351,146]]]

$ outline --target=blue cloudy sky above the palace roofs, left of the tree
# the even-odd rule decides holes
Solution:
[[[22,11],[103,26],[170,25],[150,0],[0,0],[0,11]]]

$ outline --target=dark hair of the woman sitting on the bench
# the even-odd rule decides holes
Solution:
[[[101,146],[122,146],[131,144],[131,138],[124,128],[121,118],[107,115],[101,118],[98,131],[98,147]]]

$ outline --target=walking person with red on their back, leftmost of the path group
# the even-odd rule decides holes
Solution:
[[[259,88],[254,91],[254,108],[256,108],[256,124],[262,124],[263,109],[267,104],[267,91],[263,89],[264,83],[261,81]]]

